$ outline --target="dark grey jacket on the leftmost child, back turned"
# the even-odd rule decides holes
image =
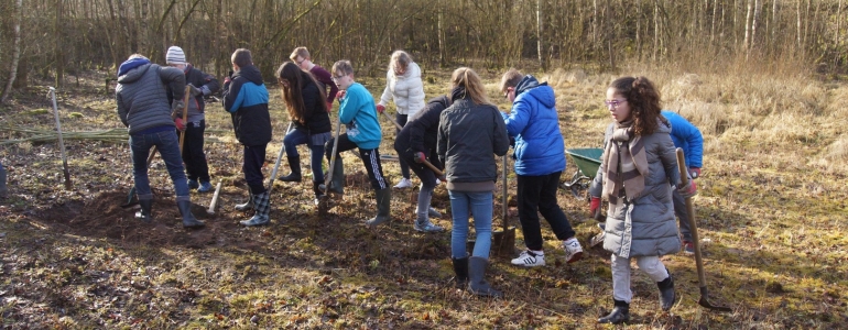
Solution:
[[[118,77],[115,88],[118,116],[130,134],[157,127],[175,127],[166,87],[173,90],[174,98],[182,100],[185,95],[183,70],[145,64]]]

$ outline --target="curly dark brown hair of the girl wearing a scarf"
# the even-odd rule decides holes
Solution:
[[[630,105],[630,118],[633,119],[633,130],[638,135],[650,135],[656,131],[656,119],[668,123],[660,114],[660,91],[645,77],[622,77],[609,85],[627,99]]]

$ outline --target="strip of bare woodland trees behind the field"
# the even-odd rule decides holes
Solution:
[[[542,68],[606,69],[628,61],[742,56],[844,70],[844,2],[2,0],[0,78],[20,88],[37,75],[61,87],[66,75],[113,69],[132,53],[164,62],[171,45],[218,76],[236,48],[251,50],[270,76],[301,45],[316,63],[351,59],[368,76],[396,48],[439,67],[481,61],[500,68],[534,58]]]

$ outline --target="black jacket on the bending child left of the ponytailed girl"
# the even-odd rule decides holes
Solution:
[[[450,99],[447,96],[441,96],[430,99],[423,110],[406,122],[394,140],[394,150],[404,156],[414,157],[414,153],[427,151],[436,147],[438,141],[438,121],[442,111],[450,107]]]

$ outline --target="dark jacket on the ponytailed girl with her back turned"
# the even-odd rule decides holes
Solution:
[[[503,156],[509,147],[503,117],[494,106],[460,98],[442,112],[437,153],[448,182],[497,182],[493,155]]]

